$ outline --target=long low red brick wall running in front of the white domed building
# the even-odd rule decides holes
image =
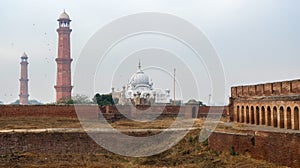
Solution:
[[[192,108],[189,106],[152,106],[151,111],[147,106],[137,107],[139,110],[149,110],[150,113],[161,113],[161,117],[176,117],[179,110],[184,112],[185,117],[191,118]],[[76,111],[75,111],[76,109]],[[222,113],[223,116],[228,115],[228,107],[216,106],[201,106],[198,108],[198,117],[206,117],[209,110],[212,110],[213,114]],[[135,114],[136,110],[132,109],[130,106],[119,106],[118,108],[114,106],[100,107],[104,116],[109,120],[118,120],[124,118],[118,110],[122,113]],[[96,119],[100,112],[99,106],[97,105],[33,105],[33,106],[22,106],[22,105],[1,105],[0,106],[0,117],[70,117]],[[115,119],[114,119],[115,117]]]

